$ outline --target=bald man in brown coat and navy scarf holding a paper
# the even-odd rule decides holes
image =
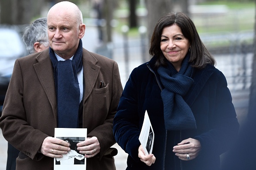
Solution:
[[[53,137],[55,127],[87,128],[87,139],[77,144],[87,170],[116,169],[110,147],[122,94],[119,69],[82,47],[84,32],[78,6],[57,3],[47,15],[50,48],[16,60],[0,118],[3,136],[20,151],[16,170],[53,169],[53,158],[70,151]]]

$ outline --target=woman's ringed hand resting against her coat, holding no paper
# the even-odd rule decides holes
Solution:
[[[178,156],[179,159],[189,161],[197,158],[200,150],[200,141],[193,138],[188,138],[186,140],[182,140],[177,146],[174,146],[172,152],[175,152],[175,155]],[[189,155],[189,158],[187,158],[187,154]]]

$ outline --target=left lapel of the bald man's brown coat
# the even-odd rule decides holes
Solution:
[[[57,123],[57,101],[53,77],[53,66],[49,57],[49,50],[45,50],[37,55],[36,59],[38,63],[34,64],[34,69],[52,106],[55,122]]]

